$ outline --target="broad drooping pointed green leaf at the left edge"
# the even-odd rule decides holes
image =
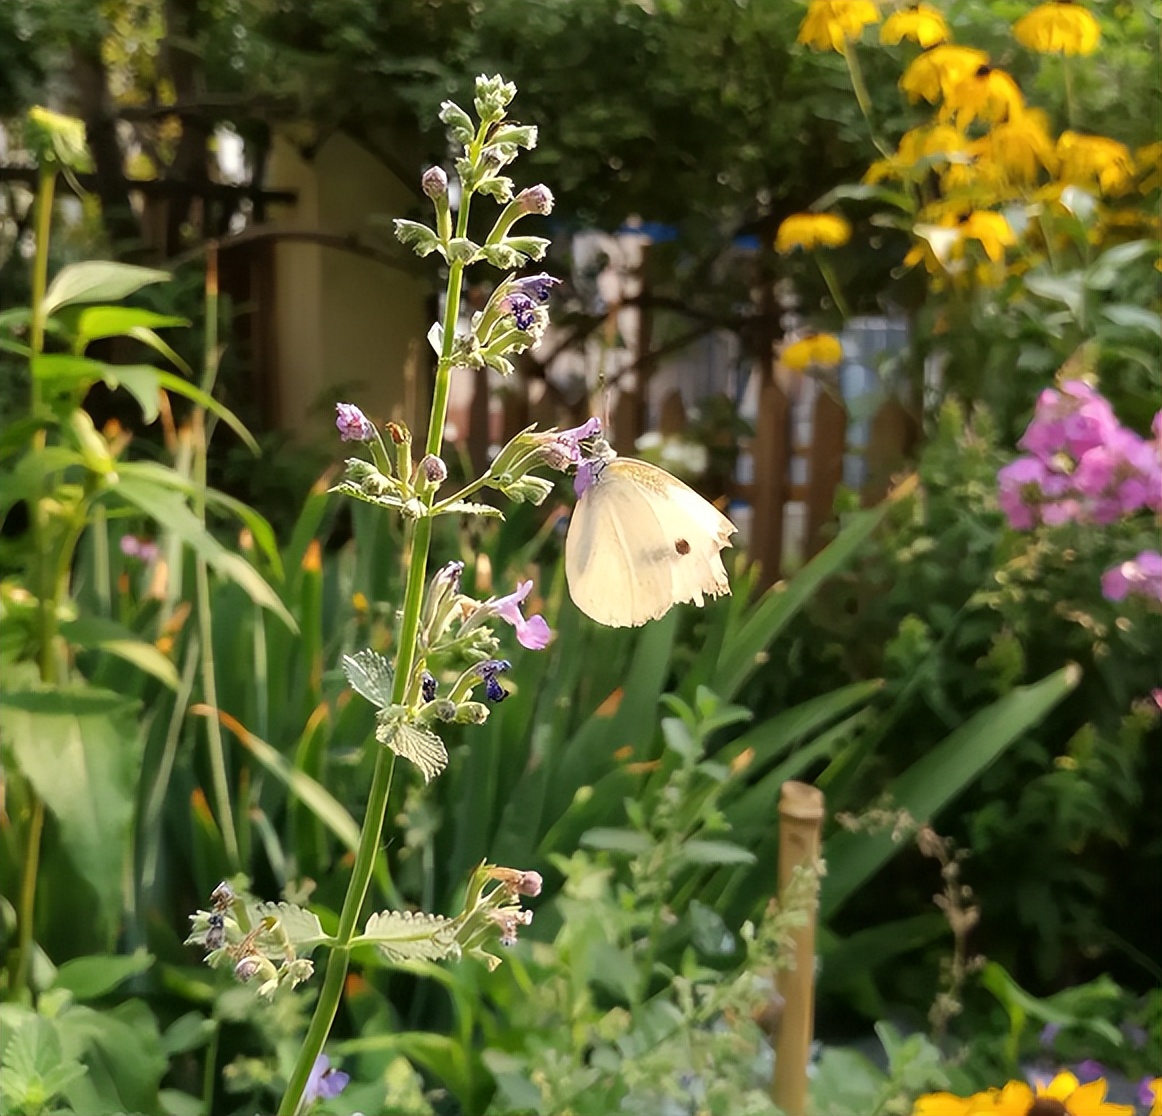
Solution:
[[[95,687],[0,693],[0,737],[114,924],[141,778],[137,709],[136,701]]]

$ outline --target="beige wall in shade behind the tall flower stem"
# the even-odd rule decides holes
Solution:
[[[360,236],[370,217],[399,216],[415,202],[390,170],[342,134],[309,163],[277,141],[268,184],[299,195],[294,207],[280,208],[278,224],[330,236]],[[389,237],[381,227],[374,239]],[[292,241],[275,242],[274,270],[278,425],[322,434],[337,399],[379,422],[402,414],[409,348],[423,344],[430,324],[422,280],[349,251]]]

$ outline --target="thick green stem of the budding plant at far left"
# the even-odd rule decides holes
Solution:
[[[34,420],[44,417],[44,398],[37,378],[36,358],[44,351],[44,293],[49,286],[49,237],[52,231],[52,198],[56,191],[56,171],[41,167],[36,185],[36,256],[33,259],[33,303],[29,329],[29,382],[30,412]],[[33,437],[31,452],[44,449],[48,441],[42,428]],[[37,631],[40,635],[41,681],[52,685],[57,681],[57,610],[52,563],[49,559],[49,532],[44,521],[45,509],[40,492],[31,501],[34,584],[36,585]],[[9,970],[9,987],[17,999],[28,987],[33,961],[33,922],[36,915],[36,878],[41,866],[41,835],[44,831],[44,802],[31,784],[28,784],[31,816],[28,823],[28,843],[24,847],[24,870],[20,881],[20,901],[16,909],[16,951]],[[28,987],[31,993],[31,988]]]

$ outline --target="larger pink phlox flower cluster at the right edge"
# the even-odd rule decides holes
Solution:
[[[1077,521],[1113,523],[1162,512],[1162,412],[1154,441],[1118,422],[1084,380],[1047,388],[1018,445],[1026,451],[997,474],[998,501],[1019,531]]]

